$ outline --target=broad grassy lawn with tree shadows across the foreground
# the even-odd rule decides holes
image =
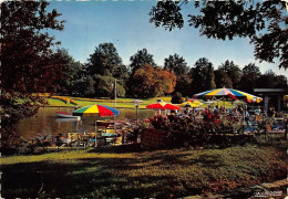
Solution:
[[[2,197],[184,197],[286,177],[287,142],[144,151],[114,146],[1,157]]]

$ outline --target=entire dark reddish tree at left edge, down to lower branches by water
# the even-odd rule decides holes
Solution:
[[[53,92],[65,66],[62,55],[52,49],[54,38],[45,30],[62,30],[64,21],[55,10],[47,12],[45,1],[1,3],[1,147],[16,137],[16,124],[37,114],[43,98],[33,92]],[[60,72],[58,72],[60,71]],[[17,101],[21,98],[22,101]]]

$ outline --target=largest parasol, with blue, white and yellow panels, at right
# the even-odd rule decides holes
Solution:
[[[255,95],[241,91],[237,91],[237,90],[232,90],[232,88],[210,90],[210,91],[195,94],[193,97],[195,98],[230,97],[233,100],[246,100],[248,103],[251,102],[259,103],[263,101],[261,97],[257,97]]]

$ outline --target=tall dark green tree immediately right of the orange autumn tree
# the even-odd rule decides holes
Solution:
[[[169,72],[176,74],[177,82],[175,91],[187,96],[189,94],[189,85],[192,80],[188,76],[188,66],[184,57],[176,53],[174,55],[169,55],[164,60],[164,70],[168,70]]]

